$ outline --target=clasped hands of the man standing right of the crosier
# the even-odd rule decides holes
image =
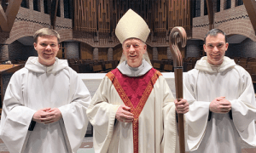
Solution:
[[[230,112],[231,103],[229,100],[225,99],[225,97],[218,97],[212,100],[209,109],[214,113],[225,114]]]

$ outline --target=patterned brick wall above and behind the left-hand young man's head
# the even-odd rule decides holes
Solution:
[[[61,41],[73,40],[72,20],[64,18],[64,5],[61,2],[61,17],[56,17],[55,30],[61,35]],[[10,44],[20,37],[31,37],[43,27],[50,27],[49,14],[44,14],[44,1],[40,1],[40,11],[33,10],[32,0],[28,1],[29,8],[20,7],[15,23],[10,32],[0,31],[0,43]]]

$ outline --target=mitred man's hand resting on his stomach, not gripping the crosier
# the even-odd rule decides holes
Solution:
[[[134,117],[130,111],[130,107],[126,105],[120,105],[118,111],[116,111],[115,118],[119,122],[132,122]]]

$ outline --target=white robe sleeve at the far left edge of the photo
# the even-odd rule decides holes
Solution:
[[[26,137],[30,133],[28,127],[36,112],[24,106],[21,89],[22,77],[20,71],[15,72],[10,79],[3,100],[0,137],[10,153],[20,153],[26,146]]]

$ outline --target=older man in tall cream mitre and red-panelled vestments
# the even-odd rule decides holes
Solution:
[[[143,59],[148,34],[145,21],[131,9],[119,20],[116,36],[125,61],[103,78],[87,110],[96,153],[179,152],[172,92]],[[177,105],[178,113],[189,110],[184,99]]]

